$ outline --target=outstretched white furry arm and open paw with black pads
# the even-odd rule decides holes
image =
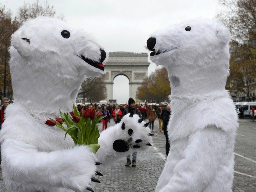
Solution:
[[[144,121],[138,121],[139,116],[126,114],[120,123],[110,126],[100,133],[96,152],[101,168],[114,163],[118,158],[124,157],[137,150],[145,150],[152,144],[149,128]],[[146,124],[147,126],[148,124]]]

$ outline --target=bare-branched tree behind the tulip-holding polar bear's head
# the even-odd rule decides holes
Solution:
[[[38,0],[32,4],[24,3],[18,8],[15,17],[12,16],[12,12],[6,6],[0,4],[0,91],[4,88],[8,89],[8,93],[4,92],[3,96],[12,98],[12,84],[8,65],[10,58],[8,47],[10,46],[11,35],[28,18],[36,18],[37,16],[54,17],[55,15],[56,12],[53,6],[50,6],[48,2],[43,5]],[[62,16],[61,19],[63,18]]]

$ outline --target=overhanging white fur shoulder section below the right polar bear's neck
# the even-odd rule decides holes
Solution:
[[[170,138],[182,138],[210,125],[225,132],[236,131],[238,115],[228,91],[218,91],[196,98],[180,99],[171,96]],[[184,102],[185,101],[185,102]],[[180,102],[186,103],[181,109]],[[183,114],[183,115],[181,115]]]

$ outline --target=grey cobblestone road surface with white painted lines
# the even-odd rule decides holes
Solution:
[[[113,123],[111,120],[110,125]],[[239,124],[235,143],[233,192],[256,192],[256,122],[242,119]],[[154,145],[146,152],[138,153],[137,166],[125,167],[124,157],[107,169],[100,170],[104,176],[97,176],[101,183],[93,184],[94,192],[153,192],[166,159],[165,137],[163,132],[158,132],[157,120],[153,133],[156,134],[153,136]],[[4,188],[2,174],[1,182],[1,192],[8,192]]]

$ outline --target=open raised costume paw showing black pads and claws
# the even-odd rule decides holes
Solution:
[[[152,138],[154,135],[150,133],[150,129],[147,127],[149,123],[145,123],[143,118],[139,118],[134,111],[125,115],[119,123],[120,128],[118,132],[121,138],[115,140],[113,148],[117,152],[126,152],[129,149],[144,150],[148,146],[152,146]]]

